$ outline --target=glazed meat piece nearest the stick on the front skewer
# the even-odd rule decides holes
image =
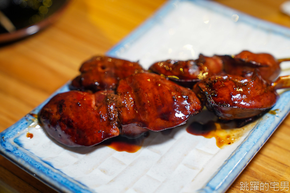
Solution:
[[[258,116],[272,108],[278,99],[275,87],[256,72],[250,77],[212,76],[195,85],[194,91],[221,120]]]

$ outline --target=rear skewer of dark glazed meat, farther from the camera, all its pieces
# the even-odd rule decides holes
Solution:
[[[188,88],[212,75],[220,73],[242,75],[251,74],[255,69],[260,71],[265,80],[274,81],[280,73],[280,62],[267,53],[242,51],[236,56],[207,57],[202,54],[197,60],[167,60],[151,65],[149,71],[160,74]],[[81,74],[71,82],[71,90],[92,91],[114,90],[119,80],[145,70],[137,63],[113,57],[96,56],[85,61]]]

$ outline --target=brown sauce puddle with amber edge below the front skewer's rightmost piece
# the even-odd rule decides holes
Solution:
[[[218,123],[214,121],[208,121],[207,123],[192,122],[186,131],[192,135],[204,136],[205,138],[215,137],[216,145],[222,148],[224,145],[230,145],[245,132],[244,128],[235,128],[236,124],[230,123]]]

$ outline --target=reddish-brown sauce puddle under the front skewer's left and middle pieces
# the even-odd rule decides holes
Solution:
[[[117,136],[104,141],[102,144],[105,144],[118,152],[135,153],[142,147],[145,138],[146,136],[140,136],[134,139],[125,136]]]

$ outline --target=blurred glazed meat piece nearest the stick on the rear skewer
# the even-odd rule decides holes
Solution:
[[[280,74],[280,62],[268,53],[252,53],[242,51],[234,57],[220,56],[224,62],[224,71],[227,74],[250,76],[255,70],[267,81],[274,81]]]

